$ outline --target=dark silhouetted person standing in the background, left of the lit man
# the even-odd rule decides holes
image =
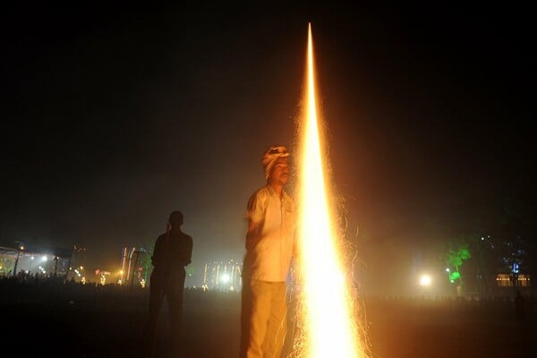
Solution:
[[[183,213],[173,211],[166,224],[166,234],[158,236],[151,256],[153,271],[149,278],[149,319],[146,328],[149,357],[155,354],[158,316],[165,297],[169,311],[171,348],[173,356],[179,354],[186,277],[184,267],[192,260],[192,237],[184,234],[181,226]]]

